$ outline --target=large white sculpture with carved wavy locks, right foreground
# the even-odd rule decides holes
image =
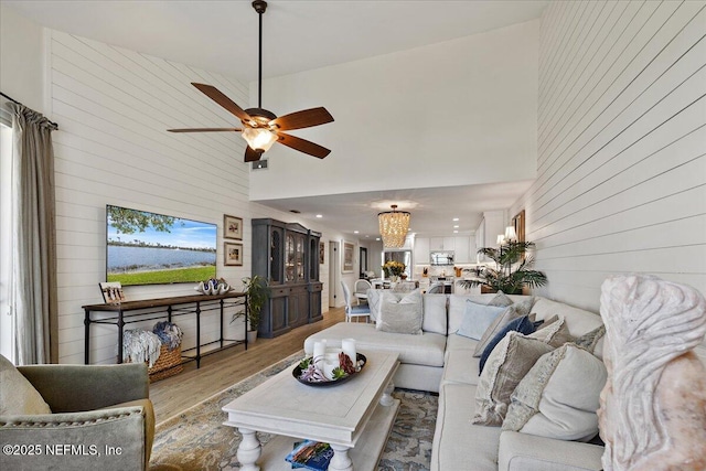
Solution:
[[[602,285],[600,314],[605,470],[706,470],[706,367],[693,352],[706,333],[704,296],[655,277],[614,277]]]

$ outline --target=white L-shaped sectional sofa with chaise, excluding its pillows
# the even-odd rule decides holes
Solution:
[[[467,300],[488,303],[494,295],[424,295],[422,335],[382,332],[374,323],[342,322],[308,338],[304,351],[325,339],[335,345],[342,339],[356,340],[357,349],[394,350],[400,365],[396,387],[439,393],[439,410],[431,451],[431,470],[600,470],[603,448],[574,441],[548,439],[500,427],[471,424],[475,410],[479,360],[478,341],[456,334]],[[511,296],[520,301],[526,297]],[[600,327],[600,315],[537,298],[532,312],[537,320],[558,314],[574,336]],[[600,344],[596,354],[600,357]]]

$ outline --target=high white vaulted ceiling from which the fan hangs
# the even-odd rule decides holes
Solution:
[[[250,1],[2,0],[45,26],[257,79]],[[265,77],[469,36],[539,18],[547,0],[289,0],[263,18]]]

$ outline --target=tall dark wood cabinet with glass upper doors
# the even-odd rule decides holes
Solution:
[[[322,319],[319,281],[321,234],[300,224],[253,220],[253,275],[266,277],[271,293],[259,335],[272,338]]]

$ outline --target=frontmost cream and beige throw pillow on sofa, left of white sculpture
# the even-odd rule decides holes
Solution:
[[[559,440],[590,440],[598,433],[600,392],[608,373],[586,350],[566,343],[545,354],[511,396],[503,430]]]

